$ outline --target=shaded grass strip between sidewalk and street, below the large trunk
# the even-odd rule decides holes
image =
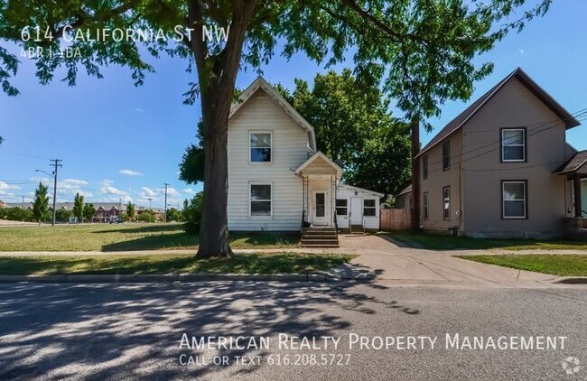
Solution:
[[[0,274],[298,274],[349,262],[335,254],[246,254],[196,260],[192,255],[0,256]]]

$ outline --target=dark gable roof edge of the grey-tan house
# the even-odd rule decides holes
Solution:
[[[508,77],[501,79],[497,85],[495,85],[493,88],[490,88],[487,93],[483,94],[480,98],[474,101],[470,107],[465,108],[465,110],[457,117],[452,119],[448,125],[445,125],[444,128],[438,134],[436,134],[428,144],[424,146],[422,151],[420,151],[416,157],[430,150],[434,145],[441,143],[445,137],[452,135],[461,129],[461,127],[465,125],[465,123],[467,123],[467,121],[469,121],[469,119],[471,119],[471,117],[474,116],[477,111],[479,111],[480,108],[483,107],[495,94],[497,94],[499,89],[503,88],[504,85],[511,79],[517,79],[524,86],[526,86],[526,88],[530,90],[532,94],[536,96],[536,98],[540,99],[554,112],[554,114],[556,114],[556,116],[560,117],[561,120],[564,121],[564,125],[567,129],[581,124],[571,113],[569,113],[556,100],[554,100],[554,98],[552,98],[544,88],[538,86],[538,84],[533,79],[531,79],[524,70],[517,68],[516,70],[512,71]]]

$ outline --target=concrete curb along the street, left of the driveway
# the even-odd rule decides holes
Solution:
[[[330,282],[330,274],[61,274],[0,275],[0,283]]]

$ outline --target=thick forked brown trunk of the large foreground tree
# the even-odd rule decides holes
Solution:
[[[245,33],[256,1],[235,1],[228,41],[216,56],[202,42],[201,5],[191,1],[190,23],[196,37],[192,50],[198,67],[202,121],[204,123],[204,200],[200,244],[196,258],[230,256],[228,245],[228,116],[237,81]]]

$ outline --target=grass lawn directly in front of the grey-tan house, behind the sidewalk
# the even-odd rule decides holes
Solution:
[[[487,250],[500,248],[504,250],[525,250],[525,249],[572,249],[587,250],[587,242],[584,241],[561,241],[561,240],[532,240],[532,239],[486,239],[452,237],[426,233],[385,233],[397,241],[407,245],[417,244],[430,250]]]

